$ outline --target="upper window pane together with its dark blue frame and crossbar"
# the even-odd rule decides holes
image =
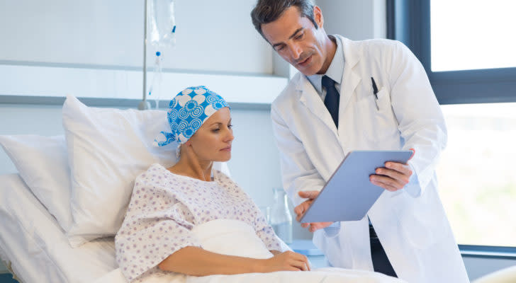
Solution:
[[[515,1],[387,1],[388,37],[420,59],[439,103],[516,102]]]

